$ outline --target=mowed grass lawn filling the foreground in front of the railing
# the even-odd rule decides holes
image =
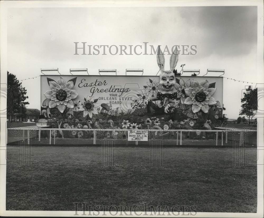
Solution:
[[[7,165],[6,210],[74,211],[74,202],[88,205],[195,205],[198,212],[256,212],[257,167],[254,173],[225,173],[232,168],[232,148],[164,148],[163,167],[171,173],[143,173],[150,153],[138,151],[147,165],[116,165],[122,173],[93,173],[102,166],[101,147],[32,146],[31,163],[38,173],[12,173]],[[126,160],[115,151],[115,163]],[[130,163],[136,153],[128,152]],[[7,150],[8,161],[18,151]],[[246,150],[246,164],[257,150]],[[131,162],[132,161],[132,162]],[[137,162],[142,163],[142,162]],[[140,210],[140,209],[138,209]],[[74,212],[73,212],[74,214]]]

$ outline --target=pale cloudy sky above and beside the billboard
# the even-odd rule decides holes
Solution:
[[[7,67],[18,79],[40,68],[143,68],[158,72],[155,55],[73,55],[73,42],[87,45],[196,45],[196,55],[180,55],[185,69],[225,69],[225,77],[257,83],[257,7],[11,8],[7,23]],[[80,45],[80,44],[79,44]],[[88,48],[88,47],[87,47]],[[81,53],[81,52],[80,52]],[[169,55],[165,55],[165,69]],[[210,74],[212,75],[212,74]],[[40,109],[40,78],[24,80],[30,105]],[[255,86],[255,84],[253,84]],[[223,103],[237,118],[245,84],[224,79]]]

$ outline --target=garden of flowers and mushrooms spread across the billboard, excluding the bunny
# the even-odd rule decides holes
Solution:
[[[77,89],[77,85],[76,90],[79,94],[74,90],[76,78],[70,79],[68,82],[64,78],[59,77],[58,81],[47,78],[50,90],[46,91],[49,89],[48,87],[44,89],[46,92],[44,91],[43,94],[46,98],[42,102],[41,114],[47,120],[54,119],[49,121],[52,128],[69,129],[69,131],[63,131],[66,135],[65,138],[90,138],[92,131],[81,129],[93,129],[98,126],[109,128],[109,124],[107,124],[109,120],[112,121],[112,126],[118,126],[113,134],[120,137],[120,134],[115,133],[122,131],[122,128],[129,130],[146,127],[159,128],[166,133],[170,129],[195,129],[196,131],[200,129],[201,124],[206,123],[213,126],[217,119],[222,117],[221,103],[218,101],[219,99],[215,99],[215,96],[219,98],[219,94],[215,94],[215,81],[209,84],[208,80],[201,82],[199,80],[201,78],[197,77],[195,79],[199,82],[193,79],[194,77],[190,79],[175,77],[174,88],[177,96],[175,102],[169,105],[173,110],[171,109],[170,113],[165,113],[161,109],[153,113],[153,111],[148,111],[150,105],[154,108],[162,106],[161,100],[155,98],[161,90],[160,83],[153,78],[147,78],[147,81],[131,97],[129,96],[129,108],[122,108],[122,104],[120,107],[116,107],[119,105],[114,105],[114,103],[112,108],[111,102],[102,98],[103,94],[101,93],[93,95],[95,97],[84,98],[87,94],[82,95],[81,90]],[[98,104],[97,98],[102,101],[101,105]],[[57,122],[56,119],[62,121]],[[60,135],[60,132],[57,132],[57,135]],[[54,134],[56,133],[54,132]]]

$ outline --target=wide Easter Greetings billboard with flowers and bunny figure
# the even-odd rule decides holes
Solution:
[[[163,78],[41,75],[42,114],[46,118],[88,121],[91,125],[99,120],[120,125],[129,119],[129,123],[141,120],[168,126],[178,122],[175,128],[183,128],[183,122],[194,126],[199,119],[205,123],[222,117],[222,77],[164,74]]]

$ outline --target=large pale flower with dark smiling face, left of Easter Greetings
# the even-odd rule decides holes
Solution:
[[[67,83],[60,77],[58,82],[49,81],[50,89],[45,92],[44,95],[47,99],[49,99],[49,108],[58,108],[60,113],[67,108],[73,108],[73,101],[78,96],[78,93],[73,90],[74,83],[72,81],[68,81]]]

